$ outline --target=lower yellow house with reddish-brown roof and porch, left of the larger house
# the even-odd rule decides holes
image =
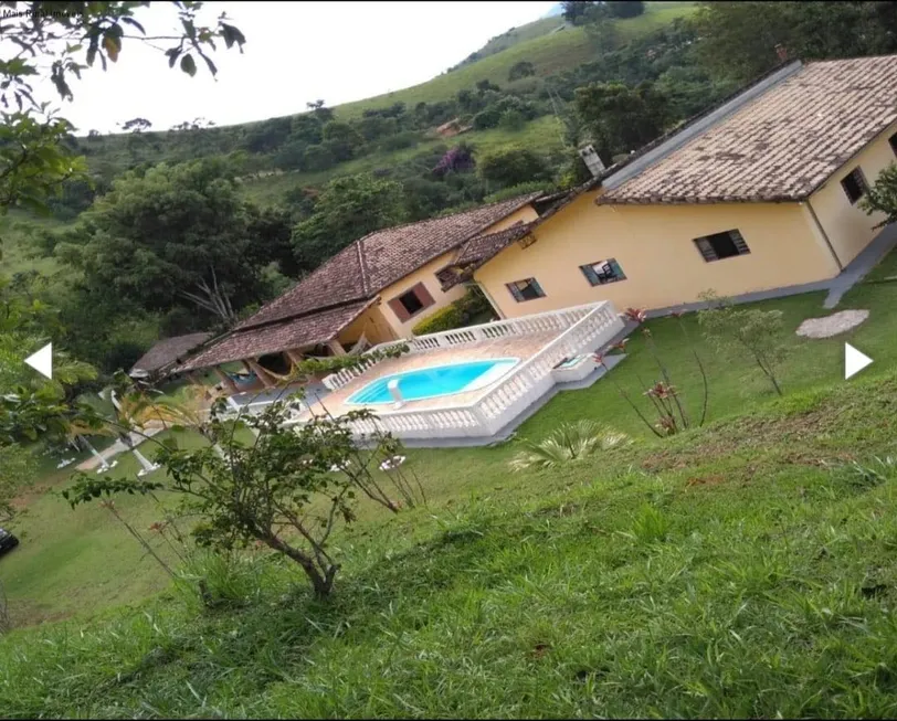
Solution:
[[[370,233],[175,371],[214,369],[235,392],[222,364],[242,361],[273,386],[305,357],[344,354],[410,337],[414,325],[465,294],[461,286],[443,289],[436,275],[457,248],[472,237],[537,219],[546,205],[542,197],[530,193]]]

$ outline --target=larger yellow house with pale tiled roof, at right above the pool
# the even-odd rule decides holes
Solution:
[[[667,309],[834,278],[882,215],[897,159],[897,55],[785,65],[532,222],[465,243],[444,283],[504,318],[611,300]]]

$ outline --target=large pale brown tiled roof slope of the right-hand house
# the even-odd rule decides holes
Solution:
[[[799,200],[897,120],[897,55],[809,63],[599,203]]]

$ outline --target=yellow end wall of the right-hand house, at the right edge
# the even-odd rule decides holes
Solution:
[[[862,152],[830,178],[826,183],[810,197],[810,204],[837,252],[841,263],[847,265],[875,237],[875,225],[885,219],[884,213],[866,215],[859,203],[851,205],[841,181],[857,166],[863,169],[866,182],[875,183],[878,173],[897,161],[888,145],[888,138],[897,132],[897,123],[877,136]]]

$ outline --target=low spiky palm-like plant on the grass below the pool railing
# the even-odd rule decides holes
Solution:
[[[577,423],[563,424],[539,443],[525,442],[526,450],[517,454],[511,459],[510,466],[515,470],[534,466],[555,468],[630,443],[632,443],[632,438],[625,433],[619,433],[594,421],[583,418]]]

